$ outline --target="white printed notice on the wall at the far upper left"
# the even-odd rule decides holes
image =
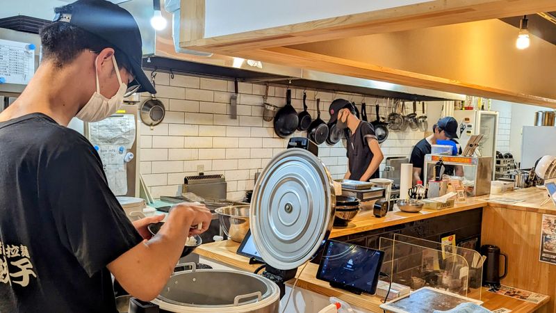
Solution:
[[[28,42],[0,39],[0,77],[26,85],[35,73],[35,47]]]

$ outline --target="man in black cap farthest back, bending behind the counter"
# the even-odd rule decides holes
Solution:
[[[413,184],[417,184],[418,181],[426,184],[425,177],[423,177],[423,166],[425,166],[425,154],[430,154],[432,150],[431,145],[436,145],[436,141],[446,141],[451,140],[457,143],[457,129],[458,124],[455,118],[447,116],[441,118],[435,125],[432,126],[432,135],[427,138],[421,139],[413,148],[411,152],[411,159],[409,163],[413,164]],[[461,149],[459,150],[461,153]],[[458,175],[462,176],[463,168],[461,166],[444,166],[446,175]]]

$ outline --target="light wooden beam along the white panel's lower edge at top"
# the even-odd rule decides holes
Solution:
[[[195,13],[187,13],[191,12],[191,8],[199,6],[199,2],[202,1],[205,0],[182,0],[182,6],[189,8],[182,10],[184,11],[182,18],[192,15],[195,15],[197,21],[202,18],[199,16],[199,12],[202,11],[204,16],[204,6],[202,10],[196,10]],[[186,49],[236,55],[240,51],[254,49],[284,47],[373,33],[407,31],[554,10],[556,10],[556,1],[554,0],[435,0],[213,38],[202,38],[203,32],[191,33],[189,31],[188,36],[182,36],[180,45]]]

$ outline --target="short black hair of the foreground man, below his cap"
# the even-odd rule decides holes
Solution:
[[[71,4],[54,8],[54,13],[72,13]],[[53,22],[40,30],[40,42],[42,45],[42,57],[54,61],[56,67],[72,63],[84,50],[100,52],[102,49],[112,48],[115,50],[115,58],[118,67],[124,67],[131,72],[131,65],[125,54],[99,36],[89,33],[79,27],[67,22]]]

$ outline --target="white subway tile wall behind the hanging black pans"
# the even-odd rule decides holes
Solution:
[[[156,97],[165,104],[167,115],[155,127],[141,125],[139,157],[140,172],[154,198],[179,194],[183,177],[197,175],[197,171],[203,170],[206,174],[224,174],[227,197],[241,200],[245,191],[253,188],[255,173],[288,143],[287,138],[275,134],[272,121],[265,122],[262,118],[265,86],[238,84],[238,118],[232,120],[229,99],[234,93],[233,81],[184,75],[174,75],[174,79],[170,79],[168,74],[161,72],[156,74],[155,81]],[[292,104],[300,111],[304,90],[292,91]],[[342,97],[357,104],[363,100],[362,95],[356,94],[314,90],[306,90],[306,93],[311,116],[316,118],[315,99],[319,97],[321,118],[325,121],[330,118],[327,109],[332,99]],[[269,103],[284,106],[285,96],[286,88],[270,86]],[[142,99],[147,97],[142,96]],[[375,104],[374,98],[366,97],[365,101]],[[379,103],[381,115],[388,115],[390,111],[385,102],[379,100]],[[370,109],[373,105],[367,110],[369,120],[376,119],[374,109]],[[417,113],[420,115],[421,112]],[[502,125],[502,118],[500,120]],[[295,131],[293,136],[306,136],[306,133]],[[383,153],[385,157],[409,157],[411,148],[423,136],[420,131],[391,131],[388,140],[382,144]],[[319,146],[319,157],[334,179],[342,178],[347,170],[344,144],[329,146],[324,143]]]

